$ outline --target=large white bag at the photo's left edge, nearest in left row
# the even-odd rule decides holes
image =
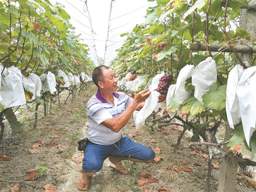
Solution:
[[[7,69],[4,77],[1,79],[0,95],[2,98],[1,104],[4,105],[5,109],[26,104],[26,97],[20,76]]]

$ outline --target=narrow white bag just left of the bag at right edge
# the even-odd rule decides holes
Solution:
[[[237,84],[244,72],[244,67],[237,64],[228,74],[226,85],[226,116],[230,128],[241,123],[238,97],[236,96]]]

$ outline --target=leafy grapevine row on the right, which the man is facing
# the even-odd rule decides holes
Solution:
[[[192,76],[188,76],[184,89],[192,90],[191,95],[182,103],[177,102],[175,96],[172,96],[167,101],[167,107],[160,109],[165,115],[158,117],[154,113],[153,119],[148,118],[148,125],[153,128],[164,124],[180,125],[184,128],[183,134],[186,130],[192,131],[192,144],[197,147],[202,143],[209,146],[210,160],[221,160],[231,155],[240,165],[255,165],[254,161],[245,160],[239,156],[248,150],[251,152],[252,159],[255,156],[256,132],[253,133],[256,128],[256,119],[253,115],[255,109],[248,111],[248,114],[252,113],[254,116],[250,116],[253,118],[252,128],[254,129],[251,130],[247,141],[244,134],[245,128],[243,129],[245,121],[242,122],[243,124],[241,121],[234,124],[232,138],[230,136],[222,143],[218,142],[218,138],[216,138],[216,132],[221,122],[228,122],[226,91],[229,72],[239,65],[242,71],[251,68],[255,74],[255,69],[252,68],[255,65],[255,56],[246,64],[246,61],[241,61],[238,51],[234,48],[236,45],[246,43],[255,45],[255,32],[247,32],[245,29],[239,29],[238,26],[241,10],[249,9],[250,1],[157,0],[157,2],[158,6],[147,9],[144,24],[136,25],[131,32],[121,35],[127,36],[126,42],[117,50],[118,56],[112,60],[110,66],[122,82],[132,82],[132,80],[136,80],[136,77],[143,76],[144,83],[141,85],[145,86],[153,77],[163,71],[165,75],[170,74],[173,77],[172,84],[175,85],[178,83],[177,79],[183,68],[191,65],[197,66],[207,58],[212,58],[216,62],[216,82],[202,96],[202,100],[199,101],[194,96]],[[196,49],[192,50],[191,45],[195,45]],[[203,45],[206,47],[205,50],[201,49]],[[217,50],[211,51],[214,45],[219,47]],[[248,47],[250,48],[250,46]],[[226,49],[231,49],[231,51],[225,51]],[[249,53],[253,52],[249,51]],[[127,79],[128,73],[133,75],[133,79]],[[122,86],[123,90],[126,89],[125,85],[126,83]],[[127,90],[129,93],[132,91]],[[253,97],[250,99],[253,101]],[[175,113],[170,118],[165,112],[166,110],[169,114],[180,110],[181,114]],[[181,138],[182,135],[176,148]],[[222,148],[225,144],[230,147],[227,152]],[[217,147],[218,150],[214,152],[211,146]]]

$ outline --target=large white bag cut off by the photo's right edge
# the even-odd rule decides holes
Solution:
[[[256,66],[243,72],[236,88],[245,139],[250,146],[250,138],[256,130]]]

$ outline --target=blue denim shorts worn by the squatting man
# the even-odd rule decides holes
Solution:
[[[129,137],[122,137],[112,145],[97,145],[87,143],[83,168],[85,172],[98,172],[103,161],[108,157],[134,158],[137,160],[151,160],[155,158],[153,149],[142,144],[133,142]]]

